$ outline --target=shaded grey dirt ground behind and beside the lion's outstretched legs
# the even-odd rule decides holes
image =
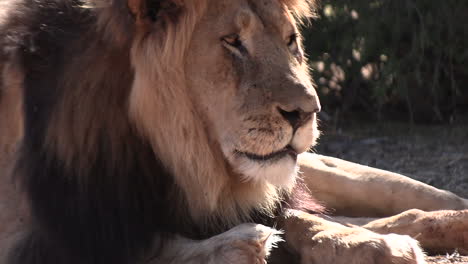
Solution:
[[[366,123],[322,124],[315,151],[407,175],[468,198],[468,122],[447,125]],[[429,263],[468,263],[456,252]]]

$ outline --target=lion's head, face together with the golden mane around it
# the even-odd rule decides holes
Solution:
[[[194,176],[180,179],[186,189],[204,192],[199,182],[208,182],[207,196],[215,198],[226,181],[292,186],[296,156],[318,134],[320,104],[296,22],[309,7],[186,1],[160,27],[140,23],[131,114],[176,175]],[[155,67],[153,60],[164,63]]]

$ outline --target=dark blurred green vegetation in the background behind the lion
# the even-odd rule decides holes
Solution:
[[[325,113],[468,116],[468,0],[322,0],[304,29]]]

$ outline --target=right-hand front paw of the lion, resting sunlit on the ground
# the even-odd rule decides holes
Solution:
[[[409,236],[380,235],[361,228],[322,231],[301,252],[302,264],[423,264],[424,253]]]

